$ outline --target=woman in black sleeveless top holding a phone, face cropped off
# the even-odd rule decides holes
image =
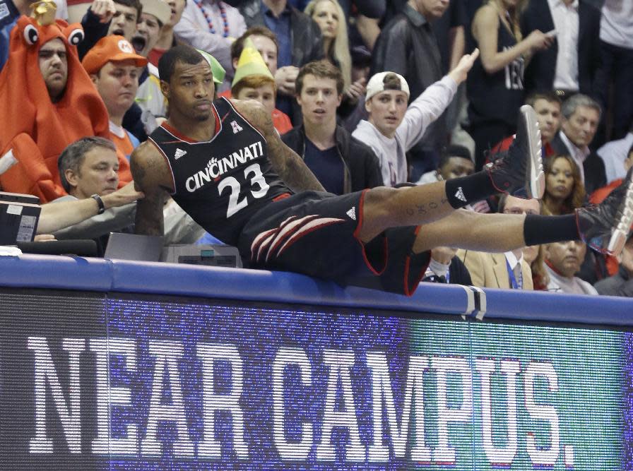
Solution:
[[[526,0],[489,0],[473,18],[480,61],[468,74],[468,117],[477,169],[487,149],[516,131],[514,117],[523,104],[523,68],[533,52],[553,41],[552,34],[539,30],[523,39],[519,16],[525,4]]]

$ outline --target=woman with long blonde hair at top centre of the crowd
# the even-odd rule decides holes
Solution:
[[[343,8],[337,0],[312,0],[306,5],[304,13],[319,25],[326,59],[341,69],[344,93],[349,100],[355,102],[365,93],[365,84],[364,81],[351,81],[352,56]]]

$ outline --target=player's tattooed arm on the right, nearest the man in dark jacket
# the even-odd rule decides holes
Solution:
[[[323,185],[312,171],[305,165],[302,158],[294,150],[285,145],[275,127],[271,115],[254,100],[234,100],[233,105],[249,120],[266,138],[268,143],[268,158],[273,168],[293,191],[325,191]]]

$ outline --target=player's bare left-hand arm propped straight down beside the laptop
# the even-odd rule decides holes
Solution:
[[[162,207],[166,189],[172,186],[167,162],[153,143],[139,145],[130,157],[130,169],[134,186],[145,193],[145,198],[136,203],[136,234],[163,234]]]

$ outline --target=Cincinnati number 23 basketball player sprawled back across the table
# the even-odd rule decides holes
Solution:
[[[466,76],[476,56],[464,56],[451,73]],[[136,212],[139,234],[162,234],[162,201],[170,193],[208,232],[237,246],[251,268],[412,294],[434,246],[504,252],[582,237],[617,252],[633,217],[623,210],[633,205],[628,186],[603,205],[575,215],[482,215],[458,209],[499,191],[542,195],[540,131],[528,106],[521,109],[507,155],[483,172],[334,196],[324,193],[300,157],[282,143],[259,103],[212,101],[211,68],[195,49],[170,49],[159,71],[170,118],[131,157],[137,189],[146,194]],[[387,88],[381,93],[404,92]],[[402,116],[394,116],[397,126]],[[618,222],[626,230],[612,237]]]

